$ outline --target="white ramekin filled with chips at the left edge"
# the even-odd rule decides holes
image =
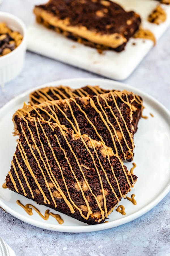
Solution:
[[[22,34],[21,44],[10,53],[0,57],[0,85],[14,79],[22,70],[24,65],[25,51],[27,47],[26,27],[18,17],[5,12],[0,12],[0,22],[5,22],[7,26]]]

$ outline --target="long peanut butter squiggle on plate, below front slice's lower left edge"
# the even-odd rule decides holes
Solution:
[[[51,215],[52,217],[54,217],[58,221],[59,224],[63,224],[64,223],[64,221],[61,219],[59,214],[54,214],[52,212],[49,212],[50,210],[46,210],[45,211],[45,216],[43,216],[42,213],[35,206],[33,206],[31,204],[23,205],[19,200],[17,200],[16,203],[18,205],[20,205],[25,210],[25,212],[27,214],[29,214],[29,215],[33,215],[33,212],[32,212],[32,208],[33,208],[39,214],[39,216],[41,218],[43,218],[44,220],[48,220],[49,216]]]

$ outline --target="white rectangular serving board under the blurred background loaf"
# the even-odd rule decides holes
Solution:
[[[160,25],[147,21],[148,15],[158,5],[154,0],[114,0],[126,11],[134,10],[142,18],[142,27],[154,33],[156,41],[170,25],[170,6],[162,5],[167,13],[167,19]],[[135,45],[133,45],[135,43]],[[124,51],[104,51],[99,54],[96,49],[76,43],[33,23],[28,27],[28,49],[47,57],[63,61],[90,72],[116,80],[126,79],[153,47],[150,40],[131,38]]]

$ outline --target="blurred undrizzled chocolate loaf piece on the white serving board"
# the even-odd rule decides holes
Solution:
[[[37,22],[100,50],[122,51],[141,18],[109,0],[51,0],[34,8]]]

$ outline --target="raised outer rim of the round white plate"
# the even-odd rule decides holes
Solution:
[[[39,85],[35,88],[31,88],[25,92],[23,92],[22,94],[19,94],[18,96],[16,96],[14,99],[10,100],[9,102],[7,102],[1,109],[0,109],[0,115],[1,113],[3,113],[3,111],[8,108],[11,104],[13,104],[15,101],[20,100],[20,98],[25,97],[26,95],[28,95],[30,92],[32,92],[33,90],[37,90],[41,87],[46,87],[46,86],[54,86],[55,84],[69,84],[69,82],[84,82],[85,84],[89,84],[89,81],[97,81],[96,84],[100,84],[103,82],[107,82],[108,84],[112,85],[112,86],[120,86],[120,87],[125,87],[125,89],[129,90],[129,91],[133,91],[137,94],[139,94],[140,96],[148,99],[149,101],[153,102],[154,104],[156,104],[157,106],[159,106],[160,109],[163,110],[163,112],[165,112],[170,120],[170,112],[160,103],[158,102],[158,100],[154,99],[152,96],[148,95],[147,93],[133,87],[130,86],[128,84],[122,83],[122,82],[117,82],[114,80],[110,80],[110,79],[101,79],[101,78],[73,78],[73,79],[61,79],[61,80],[56,80],[53,82],[48,82],[42,85]],[[88,82],[86,82],[88,81]],[[20,213],[18,213],[16,210],[13,210],[12,208],[8,207],[3,200],[0,198],[0,206],[7,211],[8,213],[10,213],[12,216],[28,223],[31,224],[33,226],[37,226],[39,228],[44,228],[47,230],[54,230],[54,231],[59,231],[59,232],[93,232],[93,231],[99,231],[99,230],[105,230],[108,228],[113,228],[125,223],[128,223],[132,220],[135,220],[136,218],[139,218],[140,216],[142,216],[143,214],[145,214],[146,212],[148,212],[149,210],[151,210],[153,207],[155,207],[170,191],[170,181],[167,184],[167,186],[162,190],[162,192],[160,193],[159,196],[157,196],[152,202],[148,203],[148,205],[146,205],[145,207],[141,208],[140,210],[138,210],[137,212],[129,215],[129,216],[125,216],[124,218],[118,219],[118,220],[112,220],[110,222],[107,223],[102,223],[102,224],[97,224],[97,225],[91,225],[91,226],[62,226],[62,225],[55,225],[55,224],[48,224],[48,223],[44,223],[41,221],[37,221],[37,220],[33,220],[31,219],[29,216],[26,217]]]

